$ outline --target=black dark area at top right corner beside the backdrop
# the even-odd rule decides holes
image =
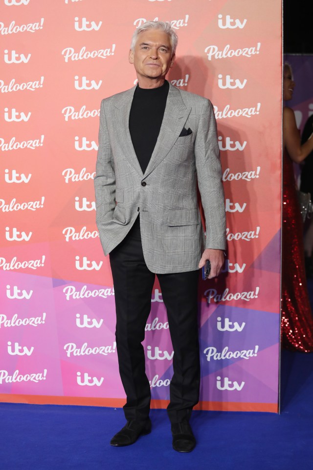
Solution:
[[[284,54],[313,54],[313,1],[284,0]]]

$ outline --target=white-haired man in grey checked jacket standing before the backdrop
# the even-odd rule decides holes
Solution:
[[[174,349],[167,408],[173,447],[189,452],[196,444],[189,418],[200,387],[199,268],[210,260],[210,277],[222,269],[225,211],[212,105],[165,80],[177,41],[168,23],[147,22],[135,30],[129,62],[138,85],[102,100],[94,183],[100,240],[110,253],[116,346],[127,396],[127,423],[111,445],[133,444],[151,430],[141,342],[157,275]]]

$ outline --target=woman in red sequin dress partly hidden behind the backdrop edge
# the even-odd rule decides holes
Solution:
[[[292,98],[291,67],[284,66],[283,99]],[[283,223],[282,223],[282,345],[313,352],[313,317],[304,266],[303,222],[292,162],[302,162],[313,150],[313,134],[301,145],[294,112],[283,108]],[[313,175],[312,175],[313,177]]]

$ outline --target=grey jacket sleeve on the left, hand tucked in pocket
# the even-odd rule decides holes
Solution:
[[[116,205],[114,162],[106,123],[104,101],[103,99],[100,107],[99,148],[94,178],[96,223],[99,231],[104,222],[112,220]]]

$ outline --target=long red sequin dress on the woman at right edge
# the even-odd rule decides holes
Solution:
[[[303,222],[293,165],[283,154],[282,224],[282,345],[293,351],[313,351],[313,317],[304,267]]]

